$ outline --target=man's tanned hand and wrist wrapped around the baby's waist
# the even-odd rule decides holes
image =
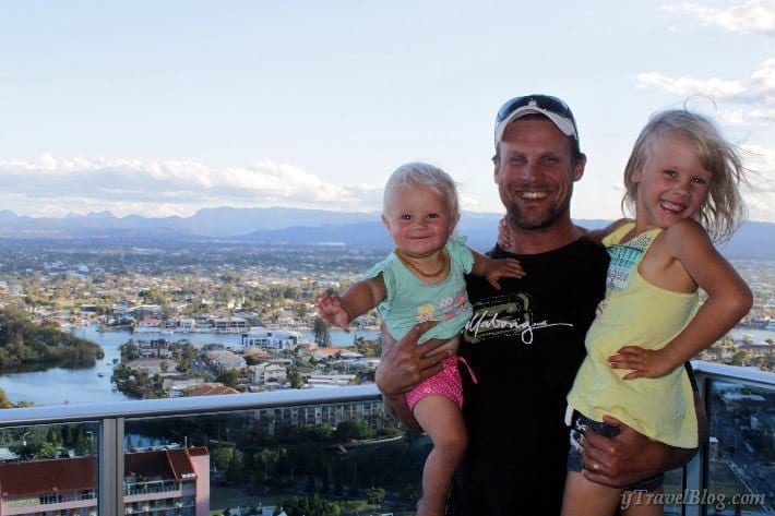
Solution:
[[[382,325],[382,357],[374,374],[377,387],[382,392],[382,400],[391,413],[416,432],[421,429],[406,405],[406,393],[419,382],[441,371],[442,360],[452,353],[444,350],[426,357],[426,353],[433,351],[445,340],[430,339],[421,345],[417,344],[422,334],[436,325],[433,321],[420,323],[397,343]]]

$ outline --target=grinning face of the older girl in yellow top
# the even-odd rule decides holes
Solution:
[[[693,217],[705,204],[712,180],[689,140],[673,135],[657,139],[643,169],[633,175],[637,183],[635,220],[664,229]]]

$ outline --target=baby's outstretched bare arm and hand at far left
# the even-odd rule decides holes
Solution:
[[[349,323],[354,319],[377,307],[385,296],[388,290],[380,274],[356,283],[342,296],[333,290],[320,292],[314,302],[323,321],[349,331]]]

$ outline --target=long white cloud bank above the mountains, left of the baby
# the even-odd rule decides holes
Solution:
[[[0,205],[25,215],[110,211],[189,216],[210,206],[380,207],[381,185],[338,185],[271,160],[215,168],[198,161],[56,158],[0,160]]]

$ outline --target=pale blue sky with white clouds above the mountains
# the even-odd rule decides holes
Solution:
[[[640,129],[689,107],[775,223],[775,0],[0,0],[0,211],[373,212],[421,160],[501,213],[494,113],[530,93],[575,113],[574,218],[620,217]]]

